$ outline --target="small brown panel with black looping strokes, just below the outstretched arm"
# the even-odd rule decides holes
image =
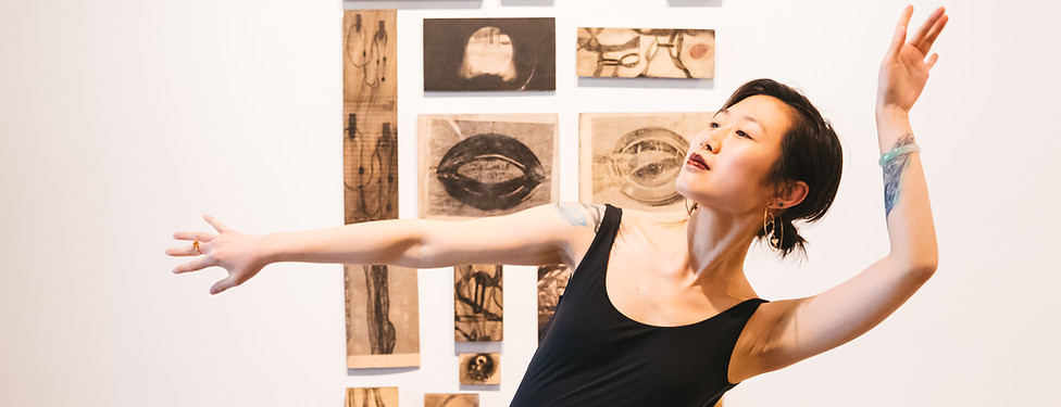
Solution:
[[[454,267],[454,341],[501,341],[502,294],[501,265]]]

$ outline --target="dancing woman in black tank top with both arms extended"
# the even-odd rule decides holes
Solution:
[[[175,272],[227,269],[214,294],[273,262],[564,263],[575,272],[513,406],[712,405],[734,383],[861,335],[935,271],[935,230],[908,114],[948,17],[936,10],[907,42],[912,12],[903,11],[881,65],[876,104],[891,250],[814,296],[765,302],[744,275],[759,237],[783,255],[801,250],[791,221],[820,218],[839,182],[829,125],[806,98],[771,80],[738,89],[692,142],[676,181],[694,202],[687,221],[559,204],[459,227],[389,220],[255,237],[207,217],[216,233],[175,233],[195,243],[167,253],[197,256]]]

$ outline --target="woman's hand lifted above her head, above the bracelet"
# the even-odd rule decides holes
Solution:
[[[944,8],[938,8],[914,36],[907,41],[907,25],[913,14],[913,7],[907,5],[899,17],[895,37],[888,53],[881,62],[881,75],[877,84],[877,110],[895,109],[902,113],[910,112],[914,102],[921,96],[928,80],[928,71],[936,64],[938,54],[928,54],[936,37],[947,25],[949,17]]]

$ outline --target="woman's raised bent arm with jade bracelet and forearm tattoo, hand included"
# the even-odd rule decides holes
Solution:
[[[891,250],[824,293],[760,308],[749,323],[766,334],[744,343],[757,363],[746,371],[733,371],[736,379],[783,368],[858,338],[891,315],[936,270],[936,232],[909,112],[936,63],[937,55],[929,55],[929,50],[948,17],[943,8],[937,9],[908,42],[912,13],[908,7],[896,27],[877,89],[877,139]]]

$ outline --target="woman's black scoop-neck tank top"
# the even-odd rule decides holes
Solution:
[[[748,318],[765,301],[747,300],[679,327],[627,318],[604,288],[622,217],[622,209],[608,205],[512,407],[713,406],[736,385],[728,381],[729,356]]]

